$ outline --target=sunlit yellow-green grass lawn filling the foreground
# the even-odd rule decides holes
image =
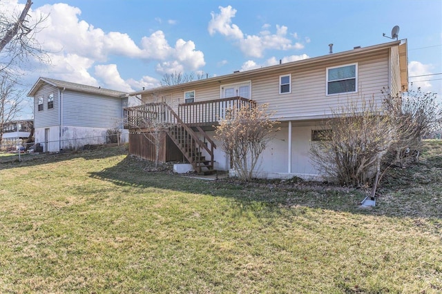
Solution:
[[[119,147],[0,164],[0,292],[442,292],[441,141],[375,208],[146,166]]]

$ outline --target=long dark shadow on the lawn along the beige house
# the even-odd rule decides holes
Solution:
[[[213,197],[228,197],[234,200],[233,205],[240,208],[240,213],[293,215],[306,208],[312,208],[363,215],[439,219],[437,222],[442,219],[439,209],[442,207],[442,196],[439,195],[435,201],[434,197],[437,196],[432,195],[433,192],[416,199],[413,189],[403,189],[401,193],[396,193],[396,188],[390,186],[384,190],[388,196],[378,199],[376,207],[362,208],[361,201],[367,195],[363,190],[320,184],[315,186],[311,183],[246,184],[225,180],[209,181],[174,175],[170,172],[147,172],[145,169],[148,165],[148,161],[128,156],[112,168],[90,173],[90,177],[106,180],[118,186],[152,187]],[[431,191],[433,189],[434,193],[437,193],[436,188],[432,186],[426,188],[430,188]],[[442,227],[442,222],[440,225]]]

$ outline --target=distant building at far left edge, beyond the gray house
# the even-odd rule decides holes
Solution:
[[[23,144],[23,140],[28,139],[32,133],[34,121],[32,119],[22,119],[8,121],[3,125],[1,146],[2,150],[16,148]]]

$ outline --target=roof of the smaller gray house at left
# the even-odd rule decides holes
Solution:
[[[50,79],[48,77],[39,77],[37,82],[32,86],[28,92],[28,97],[33,97],[37,90],[44,84],[50,84],[59,89],[73,90],[77,92],[84,92],[90,94],[104,95],[116,98],[122,98],[126,96],[126,92],[121,92],[117,90],[104,89],[100,87],[88,86],[83,84],[71,83],[70,81],[61,81],[59,79]]]

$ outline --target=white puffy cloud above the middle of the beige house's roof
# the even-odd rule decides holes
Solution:
[[[244,35],[236,24],[232,24],[236,9],[231,6],[226,8],[220,6],[219,8],[219,14],[211,12],[212,19],[209,21],[209,34],[215,35],[218,32],[224,37],[235,40],[238,42],[240,50],[247,56],[262,57],[264,51],[268,49],[298,50],[304,48],[302,43],[292,43],[292,40],[287,37],[289,35],[287,26],[276,25],[276,33],[272,34],[269,30],[271,26],[265,23],[259,35]],[[292,36],[297,37],[297,35]]]

